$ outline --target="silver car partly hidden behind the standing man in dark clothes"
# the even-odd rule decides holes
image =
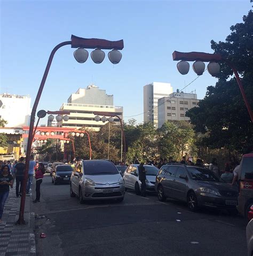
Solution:
[[[139,164],[131,164],[124,172],[124,182],[126,189],[135,190],[136,194],[140,194],[141,182],[139,180]],[[146,172],[146,191],[155,192],[155,178],[159,169],[153,165],[144,165]]]

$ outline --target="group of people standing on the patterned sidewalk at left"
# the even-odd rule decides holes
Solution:
[[[34,156],[30,156],[28,178],[26,184],[26,195],[30,194],[30,187],[33,182],[35,172],[36,179],[36,198],[33,201],[38,203],[41,197],[40,186],[43,176],[45,174],[45,167],[43,163],[36,163]],[[2,216],[5,202],[9,196],[10,187],[13,187],[14,180],[16,181],[15,191],[16,197],[21,197],[23,193],[23,180],[25,178],[25,158],[20,157],[19,161],[11,163],[10,161],[0,161],[0,223],[2,223]]]

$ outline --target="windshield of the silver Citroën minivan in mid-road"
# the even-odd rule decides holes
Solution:
[[[113,163],[107,160],[83,161],[84,175],[114,175],[119,174]]]

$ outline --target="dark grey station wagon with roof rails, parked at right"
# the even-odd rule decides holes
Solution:
[[[163,165],[156,176],[158,199],[167,197],[187,202],[192,211],[201,206],[236,212],[238,189],[208,169],[184,164]]]

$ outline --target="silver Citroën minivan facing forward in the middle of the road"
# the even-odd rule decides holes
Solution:
[[[81,160],[70,178],[70,197],[88,200],[116,199],[123,201],[124,180],[115,165],[108,160]]]

